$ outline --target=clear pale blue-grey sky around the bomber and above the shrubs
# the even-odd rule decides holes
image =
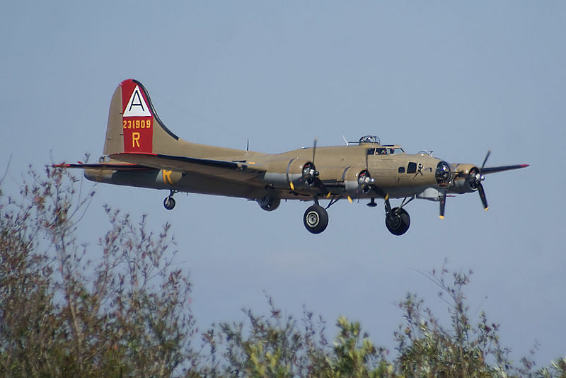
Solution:
[[[29,164],[96,161],[110,97],[129,78],[190,142],[282,152],[375,134],[478,165],[491,150],[487,166],[530,167],[487,176],[489,211],[475,193],[450,197],[444,220],[437,203],[414,201],[400,237],[381,205],[340,201],[313,235],[308,202],[264,212],[178,193],[168,212],[165,190],[100,184],[81,238],[96,253],[104,204],[147,214],[155,229],[171,222],[200,329],[244,319],[243,307],[266,313],[267,293],[297,317],[306,305],[329,324],[361,321],[390,349],[407,292],[445,316],[425,275],[447,259],[474,272],[472,319],[501,323],[515,361],[538,343],[537,365],[549,365],[566,355],[565,17],[562,1],[9,1],[3,190],[16,195]]]

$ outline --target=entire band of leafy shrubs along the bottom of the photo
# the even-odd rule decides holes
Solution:
[[[499,325],[468,317],[471,272],[446,268],[427,276],[449,324],[407,294],[395,353],[344,317],[329,342],[322,317],[284,315],[268,296],[267,314],[199,333],[169,225],[148,231],[145,217],[105,207],[110,227],[92,251],[76,239],[92,195],[51,167],[30,169],[16,199],[0,191],[0,376],[566,377],[566,358],[514,364]]]

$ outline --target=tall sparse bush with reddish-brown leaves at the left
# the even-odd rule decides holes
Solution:
[[[93,193],[57,168],[29,178],[0,210],[0,375],[169,377],[191,367],[190,283],[171,265],[169,226],[154,234],[144,218],[106,208],[95,264],[75,236]]]

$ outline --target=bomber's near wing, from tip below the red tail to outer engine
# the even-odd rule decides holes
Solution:
[[[198,173],[204,176],[216,176],[233,181],[257,179],[266,171],[265,167],[248,161],[224,161],[198,159],[186,156],[127,152],[112,154],[110,157],[134,164],[134,166],[168,169],[185,173]]]

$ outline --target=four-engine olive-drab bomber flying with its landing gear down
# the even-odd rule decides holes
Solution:
[[[108,115],[103,156],[95,164],[58,164],[82,168],[90,181],[169,190],[163,200],[173,210],[178,192],[241,197],[273,211],[281,200],[312,201],[304,227],[320,234],[328,226],[328,208],[338,200],[382,199],[385,224],[400,236],[410,227],[405,206],[415,199],[439,202],[444,218],[446,197],[478,192],[485,210],[485,175],[525,168],[528,164],[486,167],[449,164],[421,151],[407,154],[397,144],[381,144],[366,135],[342,146],[294,149],[266,154],[195,144],[180,139],[158,117],[146,88],[134,79],[117,86]],[[403,199],[392,207],[391,199]],[[320,205],[322,200],[328,204]]]

